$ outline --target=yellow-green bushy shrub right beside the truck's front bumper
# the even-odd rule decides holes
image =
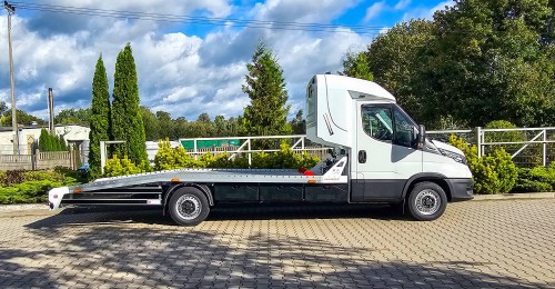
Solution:
[[[461,149],[472,171],[476,193],[508,192],[517,177],[516,166],[502,148],[478,158],[476,146],[470,146],[461,138],[451,136],[450,143]]]

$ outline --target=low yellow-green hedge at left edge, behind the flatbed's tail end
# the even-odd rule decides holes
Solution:
[[[77,172],[56,168],[39,171],[0,171],[0,203],[46,202],[52,188],[82,182]]]

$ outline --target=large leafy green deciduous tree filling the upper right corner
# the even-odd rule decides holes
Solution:
[[[504,119],[516,126],[553,124],[553,19],[547,0],[456,1],[435,13],[426,47],[421,94],[428,117],[444,111],[471,126]]]

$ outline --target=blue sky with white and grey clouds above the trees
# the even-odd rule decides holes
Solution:
[[[304,107],[304,87],[315,73],[341,70],[346,52],[365,49],[377,32],[411,18],[431,19],[451,1],[441,0],[52,0],[62,12],[20,7],[12,18],[17,106],[47,117],[47,91],[56,110],[87,108],[93,69],[103,56],[112,88],[118,52],[130,42],[139,74],[141,104],[172,117],[194,120],[202,112],[226,118],[243,112],[245,63],[262,39],[282,66],[292,106]],[[17,4],[16,4],[17,7]],[[52,7],[50,7],[52,8]],[[332,32],[290,29],[200,26],[68,13],[103,9],[169,16],[334,24]],[[98,11],[95,12],[98,13]],[[164,17],[165,16],[165,17]],[[349,26],[364,26],[366,33]],[[6,11],[0,13],[0,101],[10,103]]]

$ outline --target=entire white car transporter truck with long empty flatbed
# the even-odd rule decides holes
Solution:
[[[306,136],[333,148],[315,176],[275,169],[178,169],[99,179],[49,192],[63,205],[160,207],[180,225],[206,219],[224,202],[385,202],[405,206],[417,220],[434,220],[448,201],[473,198],[463,152],[426,139],[379,84],[317,74],[306,88]]]

